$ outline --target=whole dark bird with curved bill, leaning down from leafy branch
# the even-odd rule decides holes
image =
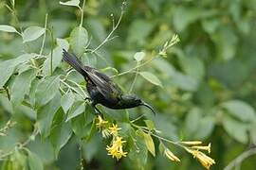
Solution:
[[[67,53],[64,49],[63,56],[64,60],[78,71],[87,82],[86,89],[90,96],[90,98],[87,99],[92,101],[94,110],[101,113],[96,107],[97,104],[101,104],[113,110],[145,106],[155,114],[155,110],[149,104],[142,101],[136,94],[122,93],[119,86],[113,82],[109,76],[99,72],[95,68],[83,65],[75,55]]]

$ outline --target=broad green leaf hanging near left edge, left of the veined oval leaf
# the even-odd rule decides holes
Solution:
[[[36,71],[34,69],[29,69],[15,78],[10,97],[11,102],[14,105],[20,104],[23,101],[25,94],[29,93],[31,81],[35,76]]]

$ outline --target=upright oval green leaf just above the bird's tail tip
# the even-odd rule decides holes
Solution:
[[[70,46],[78,57],[84,53],[87,42],[87,30],[82,26],[75,27],[70,34]]]

